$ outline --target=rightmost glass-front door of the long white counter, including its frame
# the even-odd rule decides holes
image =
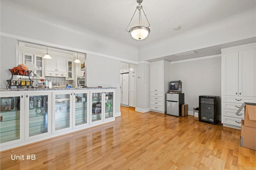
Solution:
[[[114,117],[114,91],[105,91],[105,114],[104,119]]]

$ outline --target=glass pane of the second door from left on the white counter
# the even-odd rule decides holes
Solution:
[[[29,136],[48,132],[48,95],[29,97]]]

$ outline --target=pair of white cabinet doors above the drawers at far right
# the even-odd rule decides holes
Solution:
[[[256,95],[255,55],[255,49],[222,54],[222,95]]]

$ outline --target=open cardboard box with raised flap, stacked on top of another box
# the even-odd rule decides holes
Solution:
[[[236,115],[239,115],[244,107],[244,126],[256,128],[256,103],[243,103]]]

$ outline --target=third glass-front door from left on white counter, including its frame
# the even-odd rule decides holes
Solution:
[[[72,128],[72,92],[52,93],[52,133]]]

